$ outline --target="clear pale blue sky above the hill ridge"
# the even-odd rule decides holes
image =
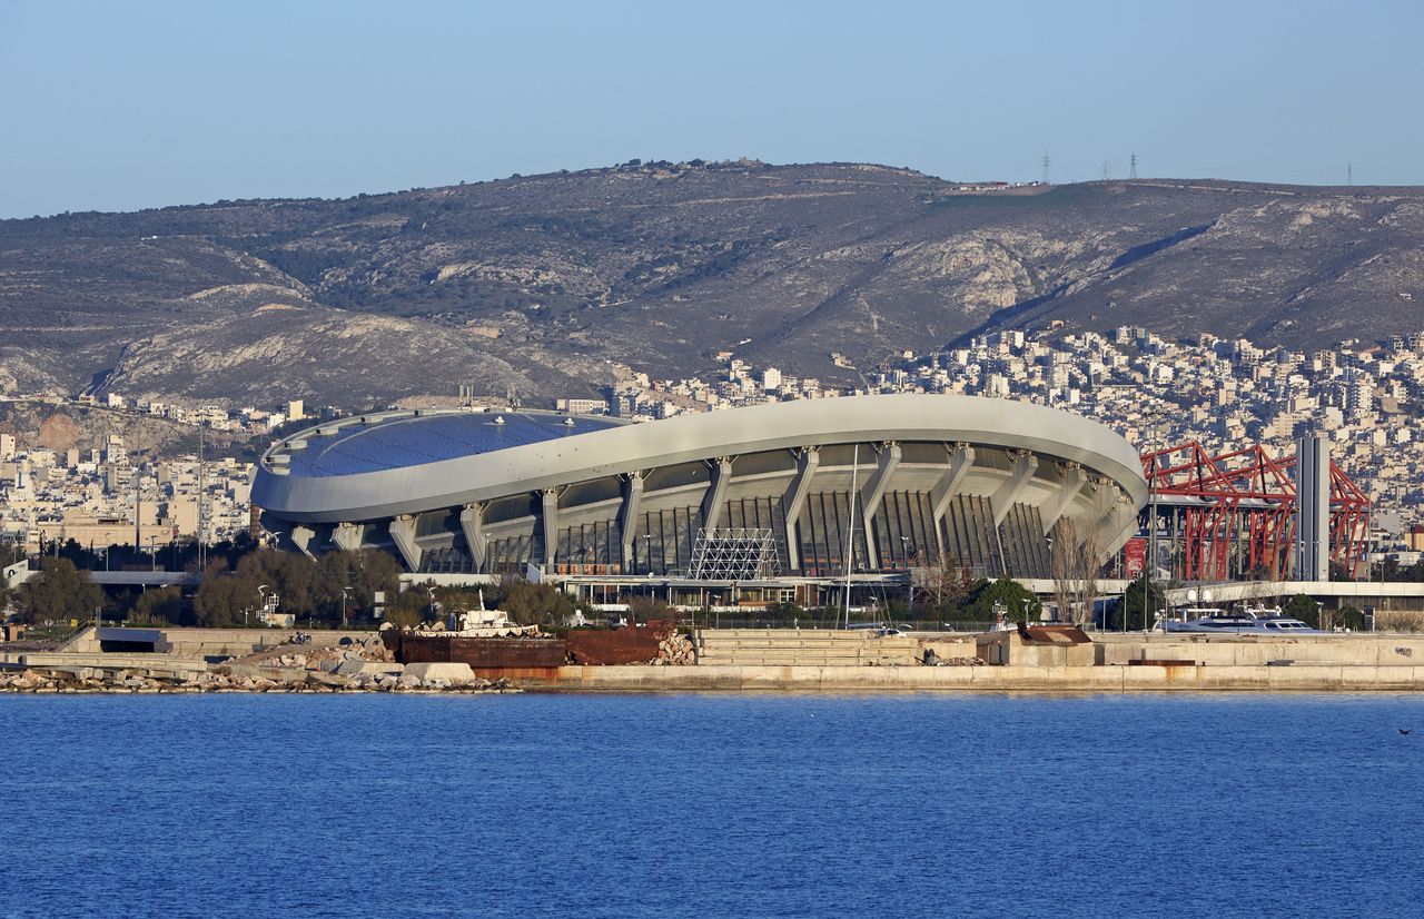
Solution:
[[[1411,0],[0,0],[0,217],[632,157],[1420,184],[1421,37]]]

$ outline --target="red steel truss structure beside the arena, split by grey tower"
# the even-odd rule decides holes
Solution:
[[[1175,577],[1227,580],[1290,573],[1296,539],[1294,456],[1260,445],[1219,456],[1188,442],[1142,455],[1156,507],[1153,537],[1171,541]],[[1353,573],[1364,549],[1370,499],[1330,463],[1330,560]]]

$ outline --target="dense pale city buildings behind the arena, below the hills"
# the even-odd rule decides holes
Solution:
[[[605,399],[560,399],[555,407],[655,419],[852,392],[943,392],[1077,412],[1118,430],[1143,452],[1196,440],[1213,455],[1262,443],[1282,456],[1293,452],[1294,437],[1319,432],[1329,439],[1334,462],[1370,496],[1378,549],[1424,549],[1424,536],[1408,536],[1424,503],[1424,442],[1414,436],[1414,422],[1424,413],[1424,333],[1396,336],[1388,345],[1344,342],[1304,353],[1212,335],[1172,342],[1131,326],[1111,335],[1061,328],[997,332],[928,355],[906,351],[864,372],[832,355],[837,366],[860,376],[853,390],[753,368],[731,352],[719,358],[723,370],[716,379],[649,379],[618,368],[621,382]],[[131,405],[117,393],[98,402],[259,442],[305,417],[300,400],[276,412]],[[104,449],[58,456],[0,435],[0,540],[31,551],[54,539],[132,544],[135,492],[145,549],[157,551],[198,534],[199,493],[206,539],[228,539],[249,527],[251,477],[251,464],[232,459],[209,460],[201,474],[197,456],[135,467],[125,445],[112,436]],[[1398,557],[1411,563],[1417,556]]]

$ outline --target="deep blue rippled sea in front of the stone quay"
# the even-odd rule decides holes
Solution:
[[[0,695],[0,916],[1424,915],[1421,695]]]

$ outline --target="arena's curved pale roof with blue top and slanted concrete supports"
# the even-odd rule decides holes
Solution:
[[[852,482],[857,513],[867,517],[886,494],[910,496],[904,502],[918,509],[904,512],[909,536],[866,536],[891,549],[896,539],[950,541],[950,524],[940,521],[956,513],[951,499],[983,504],[963,510],[978,523],[960,530],[997,531],[1021,506],[1032,517],[1025,533],[1040,526],[1048,533],[1057,520],[1077,517],[1104,530],[1115,549],[1146,502],[1138,452],[1106,426],[1025,402],[946,395],[783,402],[637,425],[518,410],[367,415],[275,443],[262,456],[252,502],[279,526],[300,531],[295,541],[303,550],[382,544],[389,526],[419,568],[422,546],[483,546],[486,533],[461,531],[451,514],[513,500],[515,507],[494,517],[524,521],[523,551],[533,560],[562,560],[575,540],[587,543],[570,527],[602,520],[614,533],[605,539],[612,549],[600,549],[600,557],[628,566],[637,540],[651,540],[649,529],[662,526],[648,516],[661,506],[696,512],[681,527],[711,527],[728,523],[729,500],[768,502],[769,510],[758,513],[778,517],[787,541],[796,541],[797,521],[806,531],[800,539],[810,539],[807,494],[844,496]],[[659,504],[658,496],[679,497]],[[920,517],[933,517],[933,539],[926,524],[911,527]],[[399,523],[417,519],[419,527]],[[353,526],[363,527],[359,537],[349,536]],[[329,527],[345,529],[335,534]],[[679,530],[678,539],[691,537]],[[874,556],[873,546],[866,551]],[[483,547],[474,554],[484,564]],[[795,547],[783,564],[800,567]]]

